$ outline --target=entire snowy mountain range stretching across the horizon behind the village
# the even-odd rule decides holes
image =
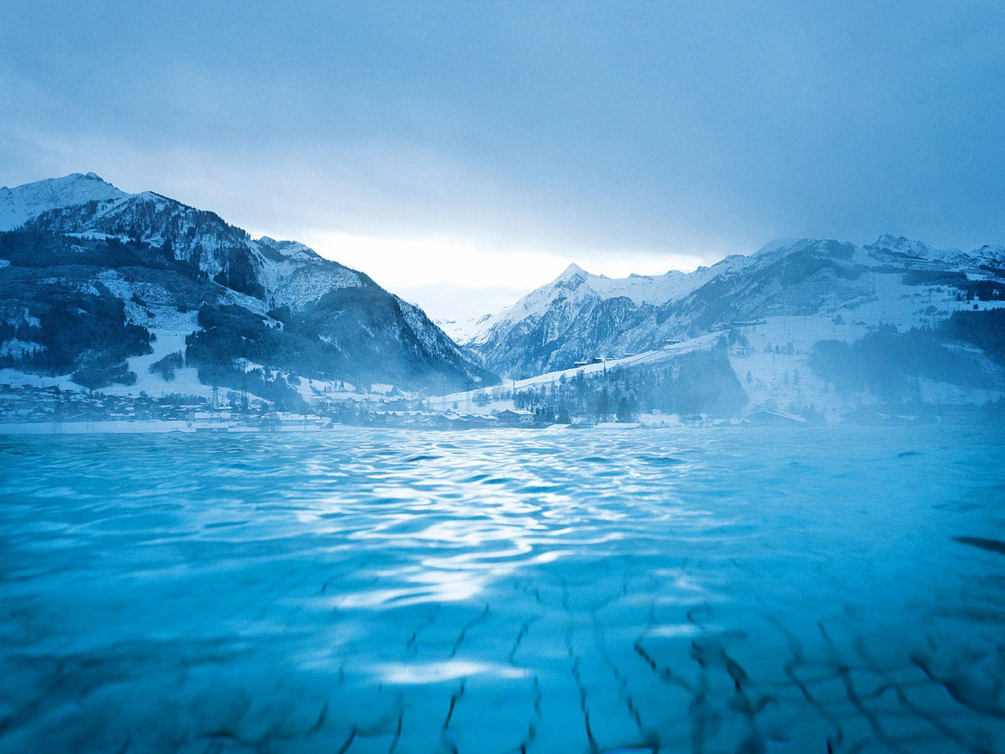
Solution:
[[[694,340],[728,346],[692,361],[735,375],[748,405],[840,415],[875,397],[866,393],[890,369],[879,361],[893,353],[914,364],[895,367],[900,397],[904,380],[923,400],[1001,395],[1003,305],[1002,246],[784,238],[686,273],[609,278],[571,264],[499,312],[444,324],[448,336],[362,271],[158,193],[130,194],[93,173],[0,188],[4,384],[212,386],[291,404],[368,390],[444,395],[596,360],[628,366]],[[912,329],[938,337],[896,340]],[[870,359],[871,376],[849,366]],[[853,397],[836,400],[838,383]]]

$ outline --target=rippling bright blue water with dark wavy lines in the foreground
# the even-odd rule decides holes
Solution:
[[[0,437],[0,751],[1002,752],[1003,461],[942,426]]]

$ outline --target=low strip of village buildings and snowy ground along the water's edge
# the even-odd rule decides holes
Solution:
[[[526,393],[532,395],[532,393]],[[516,399],[515,399],[516,397]],[[518,392],[478,396],[480,406],[430,399],[344,399],[304,404],[299,410],[282,410],[264,401],[248,401],[231,393],[223,399],[167,395],[139,397],[105,395],[58,387],[0,385],[0,433],[93,431],[177,431],[198,433],[319,432],[340,426],[387,427],[417,430],[462,429],[651,429],[660,427],[811,426],[813,417],[773,409],[757,409],[743,416],[705,412],[664,413],[659,409],[637,412],[624,405],[609,413],[588,411],[569,415],[528,405]],[[430,404],[433,405],[430,405]],[[496,407],[493,408],[492,404]],[[475,409],[475,410],[467,410]],[[619,410],[620,409],[620,410]],[[980,421],[986,412],[943,411],[939,415],[878,411],[851,412],[844,421],[869,424],[913,424],[929,421]]]

